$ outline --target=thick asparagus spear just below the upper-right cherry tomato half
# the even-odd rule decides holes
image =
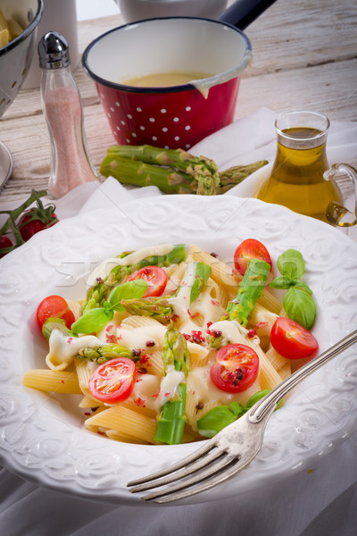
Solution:
[[[220,320],[237,320],[245,328],[255,303],[262,297],[269,272],[270,264],[260,259],[251,259],[247,264],[245,275],[239,283],[237,296],[228,303],[227,310]],[[211,348],[220,348],[221,343],[222,337],[220,335],[212,336]]]

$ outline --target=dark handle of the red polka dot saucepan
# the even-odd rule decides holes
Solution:
[[[217,17],[217,21],[228,22],[238,29],[245,29],[276,0],[237,0]]]

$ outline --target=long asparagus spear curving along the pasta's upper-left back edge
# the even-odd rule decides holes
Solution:
[[[104,281],[98,281],[94,287],[88,290],[87,298],[82,305],[82,314],[87,313],[89,309],[103,306],[112,288],[120,285],[126,277],[140,268],[144,268],[145,266],[170,266],[170,264],[179,264],[185,260],[185,245],[179,244],[174,246],[167,255],[151,255],[145,257],[145,259],[142,259],[137,264],[115,266]]]

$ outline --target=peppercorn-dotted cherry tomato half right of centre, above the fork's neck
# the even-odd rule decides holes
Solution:
[[[258,375],[259,357],[245,344],[228,344],[217,352],[211,379],[226,393],[239,393],[251,387]]]

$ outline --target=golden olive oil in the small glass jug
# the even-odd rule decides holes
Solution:
[[[282,130],[278,132],[278,151],[270,179],[256,197],[328,222],[328,204],[341,203],[342,197],[333,182],[324,179],[327,170],[322,131],[312,127]]]

